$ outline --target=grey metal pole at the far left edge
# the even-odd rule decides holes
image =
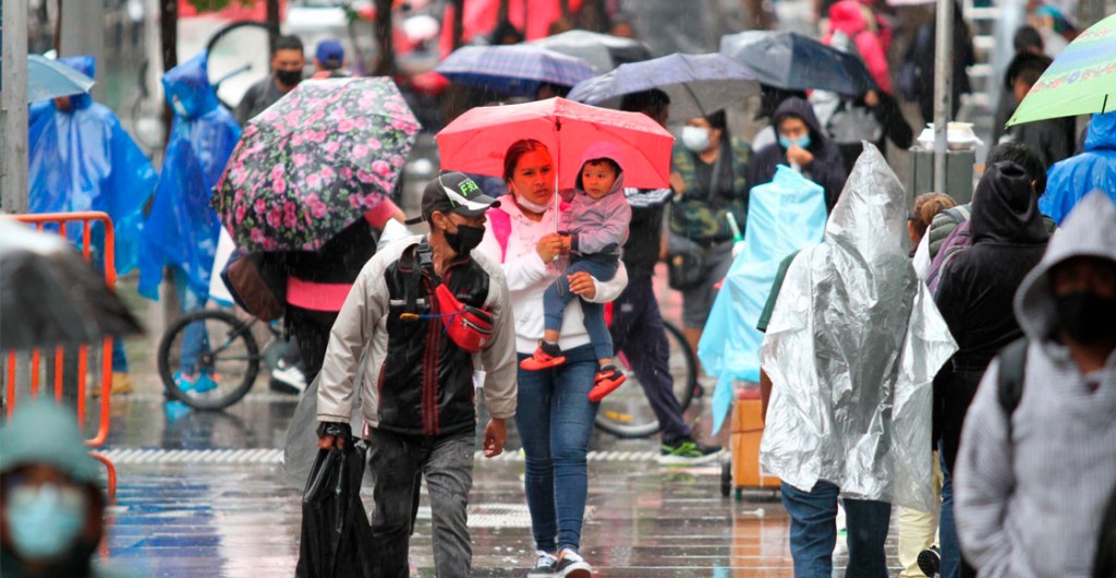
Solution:
[[[26,213],[27,200],[27,0],[3,0],[3,90],[0,121],[3,162],[0,195],[6,213]]]

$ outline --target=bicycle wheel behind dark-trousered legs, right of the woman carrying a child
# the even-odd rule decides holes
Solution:
[[[666,343],[671,351],[670,368],[674,380],[674,397],[679,401],[682,412],[685,412],[699,387],[698,357],[677,327],[664,321],[663,328],[666,329]],[[657,433],[658,420],[643,393],[639,376],[632,369],[624,351],[616,357],[624,366],[627,383],[600,402],[596,426],[619,437],[647,437]]]

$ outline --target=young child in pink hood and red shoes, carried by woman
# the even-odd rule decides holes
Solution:
[[[627,239],[632,208],[624,196],[624,174],[619,150],[609,143],[596,143],[581,158],[574,198],[562,212],[559,227],[569,235],[570,266],[543,295],[546,331],[535,355],[519,365],[528,372],[556,367],[566,362],[558,338],[561,335],[566,304],[576,297],[569,290],[569,276],[585,271],[599,281],[607,281],[619,267],[620,248]],[[589,399],[599,402],[620,386],[624,374],[613,365],[613,338],[605,325],[605,308],[581,300],[585,329],[600,364],[589,392]]]

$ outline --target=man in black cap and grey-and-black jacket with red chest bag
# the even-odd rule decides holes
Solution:
[[[508,283],[498,263],[471,252],[484,235],[484,212],[498,204],[461,173],[427,184],[422,220],[430,234],[396,241],[368,260],[329,336],[318,377],[318,446],[347,437],[359,387],[375,480],[371,550],[378,577],[407,576],[420,473],[430,493],[437,576],[469,576],[474,388],[483,386],[491,415],[487,457],[503,452],[504,421],[516,413]]]

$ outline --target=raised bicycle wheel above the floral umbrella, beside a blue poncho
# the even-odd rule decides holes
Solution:
[[[249,87],[271,74],[271,33],[266,22],[241,20],[218,30],[206,42],[210,84],[230,110],[240,104]]]

